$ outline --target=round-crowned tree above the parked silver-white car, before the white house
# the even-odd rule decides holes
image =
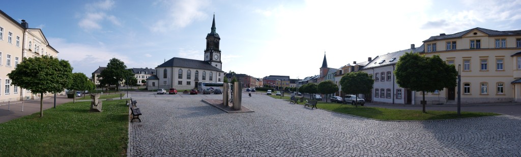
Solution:
[[[355,105],[358,102],[358,94],[370,94],[374,83],[373,76],[363,71],[346,73],[340,78],[342,91],[356,96]]]

